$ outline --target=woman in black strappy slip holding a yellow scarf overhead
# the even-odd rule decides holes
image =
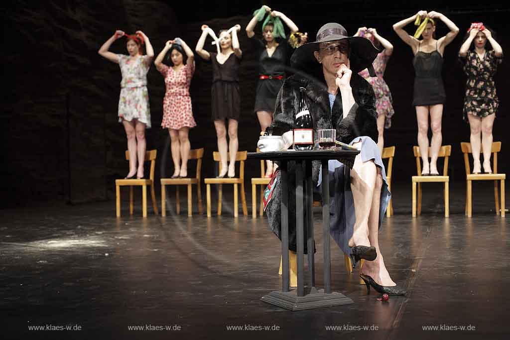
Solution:
[[[435,39],[435,19],[443,21],[450,32],[440,39]],[[423,20],[423,22],[421,22]],[[407,34],[403,27],[415,21],[420,25],[414,36]],[[420,24],[421,22],[421,24]],[[418,121],[418,145],[423,161],[422,175],[439,175],[437,160],[443,136],[441,134],[441,120],[443,104],[446,99],[442,79],[443,54],[445,47],[458,34],[456,25],[445,15],[438,12],[419,11],[412,17],[399,21],[393,25],[393,30],[407,45],[413,49],[415,68],[415,84],[413,106],[416,108]],[[422,36],[422,40],[418,38]],[[428,116],[432,140],[430,142],[430,163],[428,161]]]

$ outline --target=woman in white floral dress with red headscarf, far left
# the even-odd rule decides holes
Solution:
[[[129,56],[114,54],[108,49],[112,43],[126,37],[126,48]],[[147,54],[143,55],[142,45],[145,44]],[[126,179],[143,178],[143,162],[145,156],[145,128],[150,128],[149,96],[147,91],[147,72],[154,58],[154,49],[149,38],[137,31],[134,35],[126,35],[116,31],[99,49],[99,55],[120,66],[122,81],[120,82],[119,122],[124,125],[127,136],[127,150],[130,154],[130,170]],[[138,160],[138,166],[137,166]]]

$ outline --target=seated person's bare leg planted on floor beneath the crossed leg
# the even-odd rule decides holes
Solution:
[[[368,239],[370,245],[375,247],[377,257],[373,261],[365,261],[361,268],[361,273],[372,277],[380,285],[393,286],[395,282],[390,278],[390,274],[384,264],[384,258],[379,248],[379,204],[382,188],[382,176],[380,169],[377,168],[377,178],[375,180],[374,194],[372,196],[372,206],[370,208],[370,217],[368,219]]]

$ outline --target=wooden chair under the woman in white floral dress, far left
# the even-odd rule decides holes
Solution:
[[[158,150],[149,150],[145,152],[145,162],[150,162],[150,175],[149,178],[142,179],[116,179],[115,180],[115,191],[117,195],[116,207],[117,217],[120,217],[120,187],[129,188],[129,213],[133,215],[133,187],[142,187],[142,215],[147,217],[147,186],[150,186],[150,194],[152,196],[152,207],[154,213],[158,215],[158,205],[156,204],[156,196],[154,193],[154,169],[156,167],[156,155]],[[126,150],[126,160],[129,161],[129,152]]]

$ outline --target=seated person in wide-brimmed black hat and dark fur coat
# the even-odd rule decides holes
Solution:
[[[374,74],[372,62],[378,50],[362,37],[348,37],[338,23],[325,24],[315,42],[296,49],[291,58],[295,74],[289,77],[278,93],[274,120],[268,132],[283,135],[290,146],[296,109],[301,100],[300,87],[306,89],[305,102],[314,120],[314,140],[317,129],[335,128],[337,140],[348,143],[361,152],[351,164],[330,160],[328,169],[320,162],[313,164],[314,183],[320,185],[320,172],[328,171],[330,182],[330,233],[338,246],[351,257],[353,267],[365,259],[360,276],[380,293],[402,295],[405,291],[390,278],[378,244],[378,229],[385,215],[391,194],[377,144],[377,112],[371,85],[358,74],[368,68]],[[316,75],[313,76],[315,71]],[[349,163],[349,162],[345,162]],[[344,178],[344,166],[351,168],[350,178]],[[288,164],[289,249],[296,251],[295,176]],[[266,212],[273,232],[281,238],[280,174],[274,178],[271,200]],[[345,181],[351,191],[346,191]],[[306,220],[306,217],[305,217]],[[304,240],[307,240],[304,230]],[[305,241],[304,251],[307,253]],[[311,251],[314,251],[313,249]]]

